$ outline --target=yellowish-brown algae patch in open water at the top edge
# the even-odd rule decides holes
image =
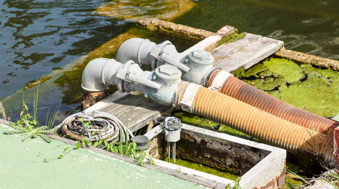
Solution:
[[[151,17],[172,20],[194,5],[191,0],[112,0],[101,5],[96,12],[123,20],[138,21]]]

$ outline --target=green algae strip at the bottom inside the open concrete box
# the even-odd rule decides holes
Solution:
[[[173,159],[169,160],[168,158],[164,158],[164,157],[162,159],[164,161],[174,163]],[[176,158],[175,164],[179,165],[179,166],[187,167],[187,168],[190,168],[190,169],[194,169],[194,170],[197,170],[197,171],[201,171],[201,172],[204,172],[204,173],[208,173],[208,174],[211,174],[211,175],[215,175],[215,176],[218,176],[218,177],[222,177],[222,178],[225,178],[225,179],[233,180],[233,181],[237,180],[241,176],[241,175],[233,173],[231,171],[227,171],[227,170],[224,170],[224,169],[218,169],[218,168],[209,166],[209,165],[204,164],[204,163],[188,160],[184,157]]]

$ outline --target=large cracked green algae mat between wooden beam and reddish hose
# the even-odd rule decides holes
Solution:
[[[339,114],[339,73],[270,58],[239,76],[266,93],[324,117]]]

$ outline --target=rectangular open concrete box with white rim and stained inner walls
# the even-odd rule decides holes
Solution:
[[[159,141],[164,138],[161,136],[163,130],[163,127],[159,125],[145,134],[149,139],[153,139],[150,147],[151,156],[158,156],[163,149],[167,149],[161,146],[163,143]],[[156,136],[159,137],[155,138]],[[242,189],[279,189],[284,186],[286,166],[286,150],[284,149],[187,124],[182,124],[180,138],[180,141],[177,142],[177,154],[187,155],[190,159],[206,162],[209,165],[222,162],[222,165],[226,165],[230,169],[241,170],[244,173],[239,182]],[[192,154],[189,155],[189,150],[180,151],[180,142],[185,143],[185,145],[188,143],[198,144],[201,149],[192,151],[194,154],[192,156]],[[193,148],[196,148],[196,146]],[[213,154],[213,151],[217,155]],[[213,162],[214,160],[211,160],[210,157],[218,157],[218,160]],[[161,160],[155,160],[155,162],[158,166],[166,167],[168,170],[180,170],[184,175],[205,179],[203,180],[204,183],[199,183],[199,180],[195,181],[198,184],[208,183],[208,186],[220,189],[225,188],[228,184],[232,186],[234,184],[233,181],[225,178]],[[219,167],[222,167],[222,165],[220,164]]]

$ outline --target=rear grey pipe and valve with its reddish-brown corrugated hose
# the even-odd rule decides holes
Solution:
[[[145,45],[152,43],[152,45]],[[124,63],[132,59],[139,64],[151,64],[153,69],[165,64],[155,63],[157,59],[152,57],[151,47],[155,43],[148,39],[133,38],[124,42],[117,54],[117,60]],[[180,57],[175,47],[168,51],[169,56],[179,60],[182,65],[189,68],[183,72],[181,80],[202,85],[206,88],[218,91],[225,95],[246,102],[268,113],[276,115],[285,120],[291,121],[311,130],[333,136],[334,129],[339,126],[339,122],[316,115],[306,110],[297,108],[274,96],[235,78],[232,74],[213,67],[214,58],[203,50],[189,53],[185,57]],[[127,53],[128,52],[128,53]]]

